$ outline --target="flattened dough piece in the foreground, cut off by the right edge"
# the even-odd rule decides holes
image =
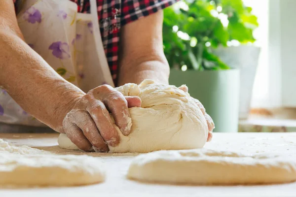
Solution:
[[[157,151],[136,157],[127,177],[195,185],[275,184],[296,181],[296,160],[212,150]]]

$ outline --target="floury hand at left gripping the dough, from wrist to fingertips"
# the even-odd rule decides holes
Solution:
[[[64,132],[81,150],[108,152],[119,143],[115,124],[123,135],[131,131],[128,107],[140,107],[139,97],[124,97],[109,85],[99,86],[79,99],[63,121]]]

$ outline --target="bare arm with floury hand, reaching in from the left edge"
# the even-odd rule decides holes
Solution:
[[[0,0],[0,87],[27,112],[55,131],[66,133],[80,149],[108,151],[119,135],[131,130],[128,106],[140,106],[138,97],[124,97],[111,86],[87,94],[67,82],[24,41],[12,0]],[[119,109],[119,110],[118,110]]]

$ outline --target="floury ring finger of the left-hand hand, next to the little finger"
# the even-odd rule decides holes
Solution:
[[[74,118],[74,123],[83,131],[84,136],[89,140],[96,152],[109,151],[108,145],[87,111],[77,111]]]

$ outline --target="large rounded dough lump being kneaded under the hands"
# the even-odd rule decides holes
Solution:
[[[124,96],[138,96],[141,107],[129,109],[131,133],[120,135],[111,153],[147,153],[157,150],[195,149],[205,145],[208,126],[205,117],[188,93],[172,85],[145,80],[140,85],[125,84],[116,88]],[[61,148],[79,150],[66,134],[58,139]]]

